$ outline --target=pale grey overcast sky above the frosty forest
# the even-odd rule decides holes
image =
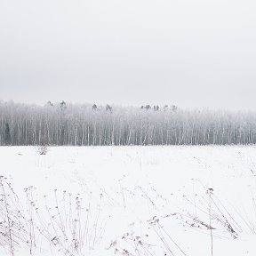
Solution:
[[[0,99],[256,110],[255,0],[0,0]]]

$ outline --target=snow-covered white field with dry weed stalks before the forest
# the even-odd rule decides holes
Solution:
[[[256,148],[0,148],[0,255],[256,255]]]

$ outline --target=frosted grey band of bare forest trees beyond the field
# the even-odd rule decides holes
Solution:
[[[0,101],[0,145],[256,143],[256,113]]]

